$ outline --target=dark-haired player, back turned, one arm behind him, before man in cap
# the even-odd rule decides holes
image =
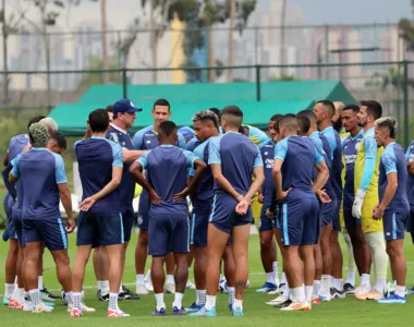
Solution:
[[[77,253],[73,268],[74,293],[71,316],[82,315],[82,284],[92,247],[106,246],[110,288],[107,316],[124,317],[129,315],[118,306],[125,242],[120,199],[122,189],[118,189],[123,170],[122,148],[105,138],[109,128],[109,116],[104,109],[89,113],[88,125],[92,137],[74,145],[83,196],[80,204]],[[99,170],[96,167],[99,167]]]

